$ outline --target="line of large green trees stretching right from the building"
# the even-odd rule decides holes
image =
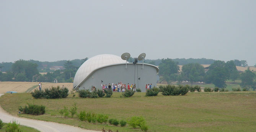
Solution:
[[[239,74],[236,69],[236,61],[214,61],[207,69],[199,63],[189,63],[182,67],[179,71],[178,62],[172,59],[162,59],[159,64],[159,75],[163,76],[166,82],[188,80],[191,85],[193,82],[205,82],[214,84],[215,87],[227,87],[226,81],[231,79],[235,82],[236,79],[241,80],[241,87],[256,89],[256,75],[248,68],[245,72]],[[245,65],[244,65],[245,66]],[[207,72],[205,72],[207,71]]]

